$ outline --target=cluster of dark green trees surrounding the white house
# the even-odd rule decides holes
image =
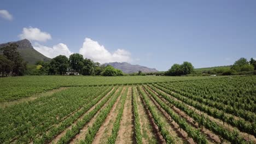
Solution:
[[[123,71],[115,69],[111,65],[101,65],[89,58],[83,58],[79,53],[73,53],[67,58],[59,55],[51,59],[50,62],[38,61],[36,63],[36,75],[103,75],[103,76],[121,76]]]

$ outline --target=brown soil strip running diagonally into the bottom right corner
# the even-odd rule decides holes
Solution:
[[[158,89],[158,90],[161,91],[160,89]],[[161,91],[161,92],[163,92],[163,91]],[[163,92],[163,93],[165,93],[165,92]],[[165,94],[167,94],[167,93],[165,93]],[[172,97],[170,94],[167,94],[167,95],[170,96],[172,99],[174,99],[174,100],[176,100],[176,101],[179,101],[180,103],[183,103],[181,100],[178,100],[177,98]],[[209,116],[207,113],[202,112],[202,111],[200,111],[200,110],[197,110],[197,109],[195,109],[195,107],[193,107],[193,106],[190,106],[190,105],[185,104],[185,103],[183,103],[183,104],[186,105],[186,106],[188,106],[190,109],[194,110],[197,114],[199,114],[199,115],[202,114],[203,116],[208,117],[211,121],[216,122],[218,125],[221,125],[221,126],[224,127],[225,129],[228,129],[228,130],[230,130],[230,131],[234,131],[234,130],[239,131],[240,136],[244,137],[245,140],[251,140],[251,141],[253,141],[253,143],[256,143],[256,139],[255,139],[255,137],[254,137],[253,135],[249,135],[249,134],[247,134],[247,133],[243,133],[242,131],[238,130],[238,129],[235,128],[235,127],[232,127],[232,126],[229,125],[228,123],[225,123],[225,122],[224,122],[224,125],[223,125],[223,122],[222,122],[220,119],[217,119],[217,118],[214,118],[214,117],[212,117],[212,116]]]

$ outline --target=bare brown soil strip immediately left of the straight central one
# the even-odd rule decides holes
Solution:
[[[106,143],[108,141],[108,137],[112,133],[113,124],[115,122],[115,118],[117,118],[118,110],[120,109],[121,103],[119,103],[121,99],[121,95],[125,92],[125,87],[123,88],[120,96],[118,97],[117,101],[113,105],[112,109],[110,110],[108,116],[106,117],[104,123],[101,125],[100,129],[98,129],[97,134],[94,138],[93,144],[97,143]]]

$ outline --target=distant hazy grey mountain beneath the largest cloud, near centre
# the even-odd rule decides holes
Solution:
[[[147,68],[143,67],[141,65],[132,65],[130,63],[119,63],[119,62],[113,62],[113,63],[104,63],[104,65],[112,65],[116,69],[122,70],[126,74],[131,73],[138,73],[139,70],[142,71],[142,73],[152,73],[152,72],[158,72],[155,68]]]

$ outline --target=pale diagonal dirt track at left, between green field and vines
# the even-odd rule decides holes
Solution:
[[[53,95],[56,92],[60,92],[60,91],[63,91],[65,89],[68,89],[68,88],[69,87],[60,87],[60,88],[56,88],[56,89],[53,89],[53,90],[50,90],[50,91],[47,91],[47,92],[43,92],[43,93],[39,93],[39,94],[33,94],[31,97],[21,98],[21,99],[10,101],[10,102],[0,103],[0,107],[4,108],[4,107],[11,106],[11,105],[19,104],[19,103],[25,103],[27,101],[35,100],[39,97],[46,97],[46,96]]]

